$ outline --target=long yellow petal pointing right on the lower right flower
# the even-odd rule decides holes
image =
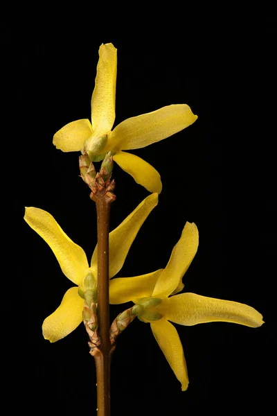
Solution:
[[[163,301],[161,309],[166,319],[188,326],[205,322],[233,322],[256,328],[264,323],[262,315],[251,306],[195,293],[169,297]]]

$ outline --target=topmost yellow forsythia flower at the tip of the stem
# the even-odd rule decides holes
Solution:
[[[91,161],[100,161],[109,150],[114,161],[150,192],[161,192],[161,177],[148,162],[131,150],[166,139],[193,124],[197,116],[186,104],[168,105],[159,110],[131,117],[114,130],[116,102],[116,48],[102,44],[99,49],[96,82],[91,98],[91,122],[72,121],[55,133],[53,144],[63,152],[84,150]]]

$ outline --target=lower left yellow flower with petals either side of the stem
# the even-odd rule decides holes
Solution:
[[[114,277],[122,268],[136,234],[157,203],[158,194],[152,193],[109,233],[110,277]],[[43,209],[26,207],[24,219],[48,243],[64,275],[78,285],[66,291],[60,306],[44,320],[44,338],[54,343],[71,333],[82,322],[84,299],[80,295],[84,292],[88,278],[97,285],[97,245],[89,266],[84,250],[69,239],[51,214]]]

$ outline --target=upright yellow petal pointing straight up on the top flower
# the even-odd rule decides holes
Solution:
[[[111,131],[115,119],[116,105],[116,48],[113,44],[102,44],[95,87],[91,98],[91,121],[93,137]]]

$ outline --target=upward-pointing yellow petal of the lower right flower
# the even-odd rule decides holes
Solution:
[[[198,241],[197,226],[195,223],[186,223],[165,270],[157,280],[153,296],[166,297],[175,291],[180,284],[181,277],[184,276],[195,257]]]

